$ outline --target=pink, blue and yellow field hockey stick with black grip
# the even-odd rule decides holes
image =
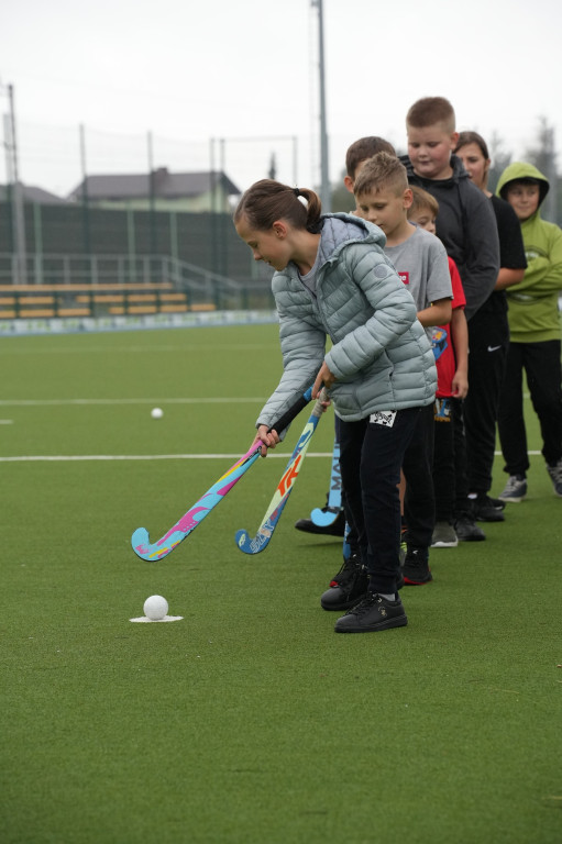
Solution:
[[[312,387],[309,387],[308,390],[283,414],[283,417],[269,427],[269,431],[275,430],[278,434],[285,431],[287,425],[289,425],[295,417],[300,413],[311,398]],[[262,443],[252,444],[252,447],[246,454],[236,460],[224,475],[221,475],[219,480],[213,484],[203,496],[201,496],[197,503],[195,503],[194,507],[191,507],[187,513],[185,513],[185,515],[169,529],[169,531],[166,531],[158,542],[151,543],[148,531],[145,528],[137,528],[131,537],[131,545],[133,546],[136,556],[141,557],[141,559],[152,562],[162,559],[162,557],[165,557],[174,551],[186,536],[189,536],[191,531],[195,531],[205,517],[222,501],[227,492],[230,492],[232,487],[238,484],[242,475],[244,475],[258,458],[261,451]]]

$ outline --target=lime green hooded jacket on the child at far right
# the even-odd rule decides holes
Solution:
[[[514,162],[499,177],[496,193],[507,199],[510,182],[529,178],[539,182],[540,195],[537,211],[521,223],[528,266],[524,280],[506,289],[509,333],[514,343],[560,340],[558,300],[562,290],[562,229],[540,216],[549,181],[532,164]]]

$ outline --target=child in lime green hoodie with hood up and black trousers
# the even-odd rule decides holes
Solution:
[[[562,290],[562,230],[540,216],[548,179],[531,164],[515,162],[497,185],[513,206],[527,257],[524,280],[507,289],[509,351],[499,398],[498,431],[509,475],[499,498],[519,502],[527,495],[527,435],[522,409],[522,371],[539,417],[542,455],[554,492],[562,498],[562,366],[558,300]]]

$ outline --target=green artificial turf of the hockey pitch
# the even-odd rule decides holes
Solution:
[[[0,365],[1,457],[232,455],[0,463],[3,844],[562,840],[562,500],[542,457],[485,543],[432,551],[407,628],[335,635],[319,596],[340,542],[293,528],[324,501],[331,411],[262,554],[234,533],[257,529],[273,456],[166,559],[130,547],[246,451],[276,326],[2,338]],[[494,492],[505,477],[498,457]],[[183,621],[131,623],[152,593]]]

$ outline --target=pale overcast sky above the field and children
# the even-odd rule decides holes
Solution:
[[[243,189],[272,152],[279,178],[318,184],[311,0],[0,0],[0,112],[11,84],[25,184],[65,196],[84,165],[208,169],[218,155]],[[406,111],[426,96],[448,97],[459,129],[496,132],[516,157],[544,115],[562,149],[559,0],[323,0],[323,20],[332,181],[357,137],[404,147]],[[225,138],[222,153],[210,138]]]

